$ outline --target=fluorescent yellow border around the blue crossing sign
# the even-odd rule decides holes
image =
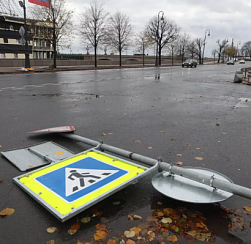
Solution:
[[[108,163],[112,166],[124,169],[128,171],[128,173],[72,203],[66,202],[65,200],[63,200],[63,198],[59,197],[58,195],[45,188],[43,185],[41,185],[35,180],[35,178],[39,176],[45,175],[47,173],[50,173],[54,170],[57,170],[87,157],[93,157],[101,162]],[[59,163],[47,166],[40,170],[36,170],[33,173],[30,173],[29,175],[24,175],[19,179],[19,181],[34,194],[39,195],[39,197],[43,199],[44,202],[46,202],[48,205],[50,205],[51,208],[53,208],[55,211],[57,211],[61,215],[66,215],[69,214],[72,209],[79,208],[87,204],[88,202],[93,201],[101,195],[111,191],[115,187],[118,187],[119,185],[127,182],[135,176],[143,173],[145,170],[145,168],[130,164],[129,162],[123,161],[121,159],[114,160],[114,157],[110,155],[103,154],[97,151],[88,151],[85,154],[73,156]]]

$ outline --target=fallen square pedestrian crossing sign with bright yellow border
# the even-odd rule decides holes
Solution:
[[[63,222],[149,172],[149,168],[90,150],[14,181]]]

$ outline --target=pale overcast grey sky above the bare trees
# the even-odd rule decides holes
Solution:
[[[111,15],[122,11],[130,18],[134,33],[142,31],[149,20],[163,11],[165,17],[173,20],[194,38],[205,38],[206,30],[210,36],[206,38],[205,57],[212,56],[212,50],[217,48],[217,40],[234,41],[240,48],[245,42],[251,41],[251,1],[249,0],[96,0],[104,3],[104,8]],[[78,25],[81,13],[85,11],[91,0],[66,0],[74,10],[74,24]],[[27,7],[29,7],[29,4]],[[240,43],[241,42],[241,43]],[[64,53],[86,53],[86,45],[76,37],[71,50]],[[134,48],[130,49],[132,54]],[[129,52],[129,51],[128,51]],[[151,50],[148,51],[149,55]],[[99,52],[100,54],[103,51]]]

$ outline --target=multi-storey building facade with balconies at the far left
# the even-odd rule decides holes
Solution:
[[[21,42],[19,30],[24,20],[12,16],[0,16],[0,59],[24,59],[25,45]],[[28,52],[30,59],[51,59],[53,48],[45,35],[51,28],[49,25],[34,20],[27,20]]]

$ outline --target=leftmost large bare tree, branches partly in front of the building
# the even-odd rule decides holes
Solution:
[[[53,46],[53,67],[57,67],[57,48],[71,43],[73,10],[65,0],[49,0],[50,8],[34,5],[31,10],[33,24],[40,26],[40,34]]]

